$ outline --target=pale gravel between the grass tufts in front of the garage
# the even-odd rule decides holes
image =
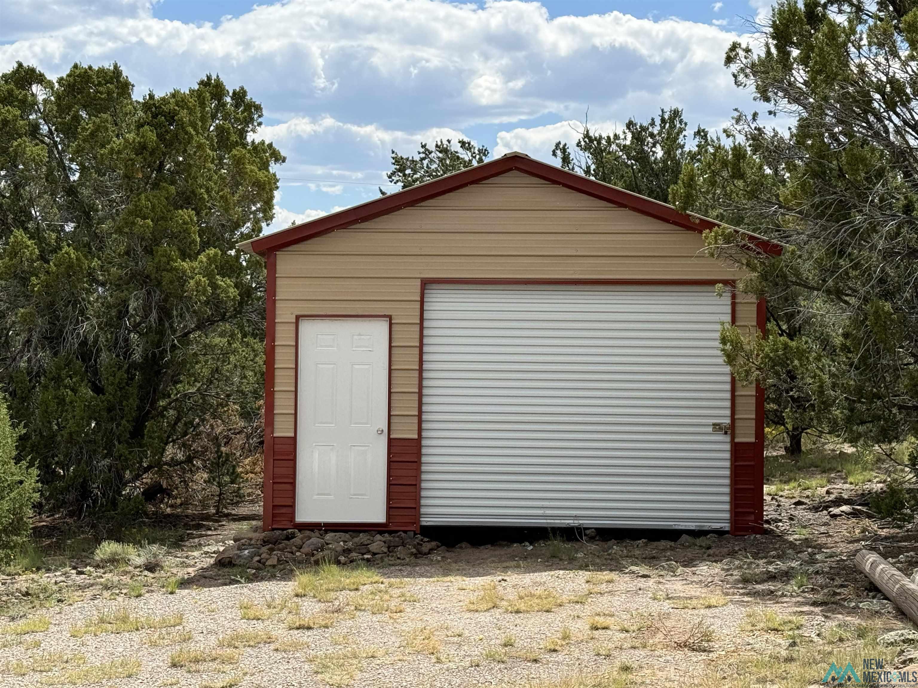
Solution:
[[[475,553],[473,551],[470,556]],[[506,562],[508,567],[516,563],[519,562]],[[446,688],[525,685],[539,679],[609,671],[622,661],[633,665],[639,675],[659,680],[674,666],[685,671],[686,667],[729,658],[736,652],[755,651],[763,642],[780,642],[741,630],[746,610],[750,605],[759,604],[750,598],[729,597],[729,604],[710,609],[674,607],[673,601],[679,598],[721,592],[716,583],[711,586],[711,571],[707,567],[697,571],[683,570],[677,575],[659,572],[651,578],[643,577],[645,571],[625,572],[618,574],[611,583],[598,584],[587,582],[588,571],[507,568],[503,573],[488,575],[476,575],[477,571],[457,574],[456,571],[464,568],[461,562],[451,561],[446,567],[428,564],[382,571],[386,581],[404,582],[404,587],[395,583],[398,587],[388,589],[404,606],[404,611],[398,614],[355,613],[348,601],[356,593],[339,593],[335,602],[324,604],[312,598],[297,598],[301,616],[330,612],[338,619],[330,628],[308,630],[287,630],[283,614],[266,620],[241,618],[242,599],[263,604],[283,598],[292,593],[293,583],[289,580],[180,590],[172,595],[156,592],[118,601],[92,600],[50,610],[47,615],[50,629],[28,636],[39,638],[40,648],[9,648],[5,650],[6,659],[25,661],[42,653],[79,653],[89,664],[136,658],[141,662],[137,676],[102,683],[126,687],[220,685],[231,676],[241,675],[244,676],[241,686],[314,686],[321,681],[310,657],[332,652],[355,655],[360,649],[378,648],[382,656],[360,661],[354,686]],[[467,568],[480,567],[470,564]],[[445,580],[444,575],[448,575]],[[548,589],[565,598],[581,597],[588,589],[590,594],[586,595],[585,604],[569,601],[552,612],[513,614],[499,608],[486,612],[467,611],[466,602],[489,581],[496,584],[500,594],[510,598],[522,590]],[[382,588],[381,585],[371,587]],[[663,599],[664,592],[668,599]],[[84,638],[70,636],[70,627],[79,626],[113,606],[127,607],[138,616],[181,613],[184,616],[181,629],[192,636],[179,646],[165,648],[145,643],[156,633],[151,630]],[[769,608],[789,611],[792,605],[772,604]],[[627,621],[633,619],[633,614],[638,615],[638,619],[662,620],[666,633],[677,639],[683,638],[689,628],[703,619],[713,630],[714,637],[706,651],[696,652],[675,647],[673,641],[661,635],[655,626],[631,633],[614,629],[590,630],[588,627],[590,616],[615,616]],[[822,621],[814,618],[813,623]],[[544,649],[546,639],[560,637],[565,627],[570,629],[571,638],[564,647],[553,652]],[[442,649],[436,654],[426,654],[406,647],[406,634],[418,628],[431,629],[433,637],[441,641]],[[274,651],[272,644],[244,649],[237,664],[228,664],[219,672],[192,673],[169,666],[170,655],[178,647],[213,648],[218,638],[241,630],[267,630],[278,640],[305,641],[308,648],[292,653]],[[504,662],[487,659],[487,650],[498,649],[508,635],[515,640],[515,645],[506,649],[511,655],[509,659]],[[597,646],[608,647],[609,656],[597,655]],[[512,657],[512,653],[524,650],[536,650],[538,660]],[[5,675],[0,685],[42,685],[50,675],[53,674]]]

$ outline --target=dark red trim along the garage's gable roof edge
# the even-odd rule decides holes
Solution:
[[[633,210],[635,213],[655,217],[655,219],[668,222],[671,225],[690,229],[694,232],[703,232],[711,227],[717,227],[719,223],[714,220],[695,215],[692,213],[680,213],[672,205],[660,203],[653,198],[647,198],[640,194],[634,194],[625,191],[611,184],[597,182],[577,172],[563,170],[547,162],[537,161],[528,155],[519,152],[507,153],[506,155],[496,158],[492,161],[483,162],[475,167],[470,167],[461,172],[453,172],[446,176],[434,179],[431,182],[411,186],[408,189],[397,191],[392,194],[380,196],[372,201],[367,201],[360,205],[353,205],[337,213],[330,213],[317,217],[314,220],[303,222],[299,225],[286,227],[271,234],[249,239],[238,244],[239,248],[247,250],[250,253],[267,255],[268,253],[285,249],[288,246],[297,244],[300,241],[307,241],[323,234],[328,234],[336,229],[352,227],[353,225],[372,220],[375,217],[394,213],[410,205],[417,205],[428,201],[431,198],[442,194],[449,194],[452,191],[461,189],[470,184],[484,182],[500,174],[511,171],[523,172],[533,177],[544,180],[549,183],[556,183],[580,194],[587,194],[594,198],[599,198],[612,205],[618,205],[623,208]],[[779,248],[767,242],[762,237],[744,232],[745,236],[757,239],[754,241],[760,249],[769,253],[779,252]]]

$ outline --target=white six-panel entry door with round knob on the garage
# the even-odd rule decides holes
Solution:
[[[297,521],[384,523],[386,318],[301,318]]]

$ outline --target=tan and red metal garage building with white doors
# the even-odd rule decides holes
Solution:
[[[510,153],[243,244],[264,527],[760,532],[763,395],[718,335],[765,308],[711,226]]]

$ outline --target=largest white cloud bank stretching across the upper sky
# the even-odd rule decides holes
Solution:
[[[0,46],[0,70],[23,60],[54,75],[75,60],[117,60],[158,92],[219,72],[274,117],[326,112],[386,128],[406,117],[416,128],[578,117],[587,106],[625,119],[642,96],[707,112],[734,105],[722,56],[735,36],[676,18],[550,18],[534,2],[289,0],[190,25],[151,17],[143,0],[105,4],[132,9]]]

